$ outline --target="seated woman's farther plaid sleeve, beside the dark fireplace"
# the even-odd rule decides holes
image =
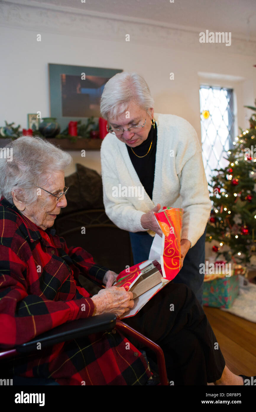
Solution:
[[[74,272],[74,278],[78,279],[78,275],[83,274],[88,279],[102,285],[103,278],[106,272],[110,269],[105,266],[97,265],[94,262],[92,255],[86,252],[83,248],[74,246],[68,248],[63,237],[60,238],[60,243],[73,262],[73,265],[70,265],[70,267]]]

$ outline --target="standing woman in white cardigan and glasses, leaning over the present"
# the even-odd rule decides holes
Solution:
[[[138,73],[118,73],[106,83],[101,115],[108,134],[101,145],[106,214],[129,231],[134,264],[148,259],[155,233],[152,214],[164,206],[183,208],[182,268],[185,283],[202,304],[206,224],[211,202],[195,129],[175,115],[154,114],[148,84]]]

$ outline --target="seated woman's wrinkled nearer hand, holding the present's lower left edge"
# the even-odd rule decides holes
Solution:
[[[114,313],[117,317],[134,307],[132,292],[127,292],[125,288],[111,286],[108,289],[101,289],[97,295],[92,296],[95,310],[92,316],[102,313]]]

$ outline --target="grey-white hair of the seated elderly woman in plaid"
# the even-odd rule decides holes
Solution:
[[[47,183],[49,175],[65,171],[72,157],[39,136],[22,136],[10,142],[12,160],[0,159],[0,198],[4,196],[11,204],[12,191],[22,194],[26,204],[37,200],[37,185]]]

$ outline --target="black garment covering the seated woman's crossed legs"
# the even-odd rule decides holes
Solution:
[[[174,385],[207,385],[220,379],[225,360],[194,292],[182,283],[168,283],[131,318],[123,319],[164,351],[167,376]],[[156,362],[154,353],[144,349]]]

